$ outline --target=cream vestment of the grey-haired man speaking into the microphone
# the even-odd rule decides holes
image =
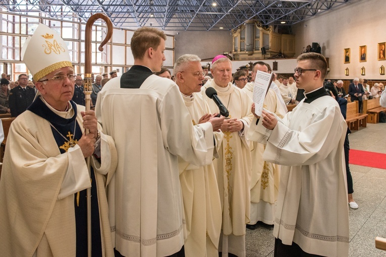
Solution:
[[[182,95],[189,110],[193,125],[212,125],[209,122],[198,124],[200,118],[210,113],[208,104],[200,93],[192,97]],[[216,148],[221,144],[224,134],[214,132]],[[218,158],[213,137],[207,142],[208,158]],[[221,231],[221,205],[214,166],[211,162],[206,166],[196,166],[180,157],[180,182],[184,203],[185,256],[218,256],[218,240]]]

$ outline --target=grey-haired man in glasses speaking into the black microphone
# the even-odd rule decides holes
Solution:
[[[224,134],[219,129],[224,116],[213,117],[217,113],[210,114],[209,105],[199,94],[204,79],[200,61],[197,55],[184,54],[176,60],[173,71],[193,125],[213,126],[213,137],[207,142],[207,158],[212,159],[218,157],[218,147],[223,140]],[[213,163],[195,166],[179,158],[179,167],[185,256],[218,256],[222,212]]]

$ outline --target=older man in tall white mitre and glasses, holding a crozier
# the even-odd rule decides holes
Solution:
[[[47,53],[41,47],[47,42],[60,48]],[[94,111],[71,101],[74,70],[56,32],[39,24],[21,56],[38,93],[11,123],[7,138],[1,255],[87,256],[86,188],[91,187],[92,256],[114,256],[104,189],[117,165],[114,142],[98,130]]]

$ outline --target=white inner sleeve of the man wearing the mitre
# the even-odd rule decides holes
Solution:
[[[58,200],[91,186],[90,175],[82,149],[78,145],[68,149],[68,169],[64,176]]]

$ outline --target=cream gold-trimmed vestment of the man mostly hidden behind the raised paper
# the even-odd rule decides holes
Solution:
[[[249,85],[245,86],[243,90],[250,97],[253,96],[253,88]],[[287,108],[283,109],[279,101],[282,98],[281,96],[279,97],[272,89],[269,89],[263,106],[265,109],[283,118],[286,115]],[[258,221],[272,225],[275,214],[275,202],[278,200],[280,165],[264,161],[264,149],[264,144],[251,142],[251,221],[249,223],[251,225],[256,224]]]

